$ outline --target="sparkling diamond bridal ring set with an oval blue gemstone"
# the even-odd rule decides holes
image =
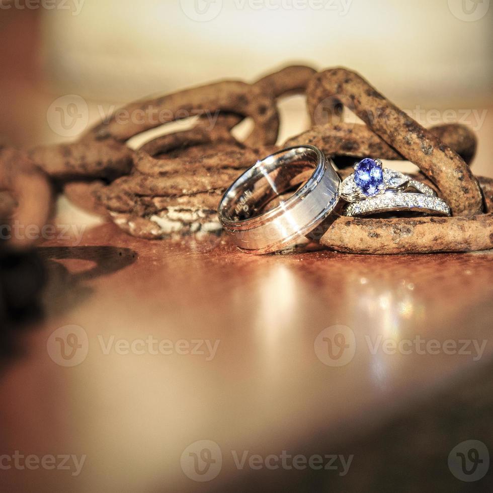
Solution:
[[[380,159],[365,158],[341,184],[340,194],[350,202],[343,215],[364,216],[380,212],[412,211],[450,216],[450,207],[428,185],[382,168]],[[414,190],[417,193],[409,193]]]

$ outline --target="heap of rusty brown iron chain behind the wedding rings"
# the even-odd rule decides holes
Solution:
[[[312,127],[276,146],[278,101],[303,93]],[[365,124],[345,122],[343,106]],[[120,121],[119,112],[138,113],[139,119]],[[136,150],[127,145],[130,138],[192,112],[199,114],[193,128],[153,138]],[[212,113],[213,126],[207,118]],[[232,130],[245,118],[252,120],[253,130],[240,142]],[[316,73],[310,67],[290,66],[254,84],[221,81],[133,103],[75,143],[16,151],[23,173],[9,164],[14,151],[4,148],[0,190],[8,193],[0,193],[0,215],[11,216],[17,204],[23,220],[46,221],[53,183],[77,205],[109,216],[138,237],[218,232],[217,204],[234,178],[276,149],[302,143],[316,145],[339,166],[345,166],[345,158],[354,161],[368,155],[408,159],[420,168],[420,179],[435,186],[454,211],[450,218],[335,217],[314,232],[326,247],[373,254],[493,248],[493,182],[478,182],[468,166],[476,148],[474,134],[457,124],[425,129],[358,74],[343,68]],[[29,199],[32,185],[26,170],[42,190],[35,203]]]

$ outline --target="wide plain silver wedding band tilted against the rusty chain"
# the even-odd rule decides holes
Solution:
[[[315,170],[308,181],[277,207],[266,205]],[[332,161],[311,145],[281,150],[243,173],[222,198],[218,217],[244,252],[265,254],[296,243],[318,226],[339,201],[341,179]]]

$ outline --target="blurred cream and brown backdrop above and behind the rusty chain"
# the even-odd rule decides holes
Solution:
[[[208,81],[253,81],[289,63],[344,65],[425,125],[471,126],[479,135],[475,171],[493,176],[489,0],[1,0],[0,6],[5,143],[73,140],[121,104]],[[70,131],[57,128],[53,120],[63,116],[54,107],[65,107],[69,119],[74,101],[83,118]],[[303,105],[301,97],[282,103],[280,140],[307,126]]]

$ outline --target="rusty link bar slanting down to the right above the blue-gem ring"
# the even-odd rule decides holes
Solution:
[[[351,108],[373,132],[414,162],[440,188],[454,214],[472,216],[482,212],[479,185],[464,160],[360,75],[345,68],[314,75],[307,88],[312,119],[317,106],[328,97]]]

